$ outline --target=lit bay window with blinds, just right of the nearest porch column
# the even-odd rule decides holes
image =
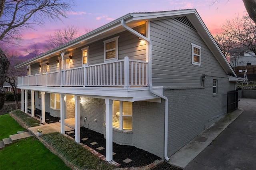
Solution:
[[[132,130],[132,102],[113,101],[113,128]]]

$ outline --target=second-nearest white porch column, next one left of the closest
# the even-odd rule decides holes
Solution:
[[[75,96],[75,140],[80,143],[80,96]]]

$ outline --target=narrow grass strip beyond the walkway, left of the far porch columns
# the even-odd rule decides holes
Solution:
[[[12,111],[14,115],[19,117],[28,127],[36,127],[40,124],[40,121],[30,117],[26,113],[22,112],[20,109],[16,111]]]

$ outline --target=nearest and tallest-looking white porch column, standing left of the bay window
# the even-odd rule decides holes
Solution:
[[[106,103],[106,161],[113,160],[113,127],[112,105],[113,100],[105,99]]]

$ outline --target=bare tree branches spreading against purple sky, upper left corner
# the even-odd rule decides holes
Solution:
[[[14,43],[22,32],[44,24],[44,20],[62,20],[74,5],[72,0],[6,0],[0,18],[0,40]]]

